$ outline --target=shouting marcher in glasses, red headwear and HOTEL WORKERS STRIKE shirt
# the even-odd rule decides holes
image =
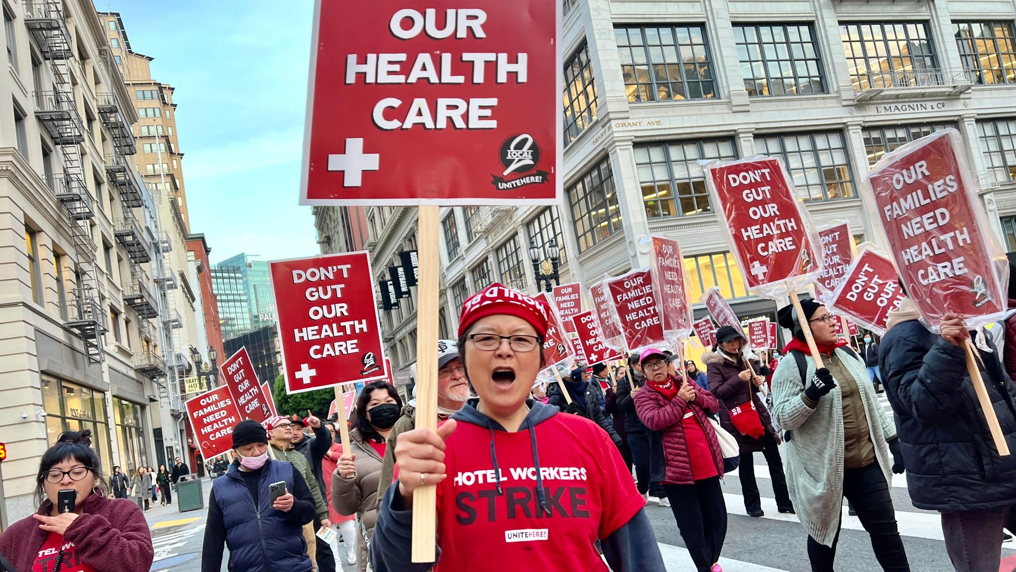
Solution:
[[[381,501],[370,547],[375,572],[435,567],[410,559],[414,491],[423,485],[438,487],[439,570],[663,571],[644,501],[611,439],[580,416],[527,399],[546,366],[549,312],[499,283],[463,303],[458,347],[479,398],[437,432],[399,436],[398,486]]]

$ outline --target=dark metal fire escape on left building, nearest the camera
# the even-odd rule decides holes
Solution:
[[[75,283],[67,304],[66,327],[84,342],[88,362],[103,362],[102,336],[107,331],[106,312],[99,304],[100,281],[97,273],[96,246],[91,240],[94,215],[91,195],[84,184],[81,150],[85,129],[74,100],[70,77],[73,57],[71,36],[59,0],[27,0],[24,22],[35,38],[43,58],[52,64],[54,89],[36,92],[36,117],[60,147],[61,174],[47,184],[67,211],[73,256]]]

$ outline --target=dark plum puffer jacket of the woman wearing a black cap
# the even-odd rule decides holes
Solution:
[[[702,363],[706,365],[706,375],[709,378],[709,391],[719,399],[719,425],[725,429],[735,439],[742,453],[757,453],[762,451],[762,439],[753,439],[747,435],[742,435],[738,428],[731,422],[731,409],[747,403],[749,399],[755,403],[755,408],[762,420],[762,427],[771,435],[776,435],[776,430],[772,427],[772,419],[765,403],[759,399],[755,386],[739,377],[741,372],[748,369],[744,358],[740,358],[737,363],[726,359],[719,352],[706,352],[702,355]],[[752,368],[757,375],[768,375],[769,368],[763,367],[758,360],[751,361]]]

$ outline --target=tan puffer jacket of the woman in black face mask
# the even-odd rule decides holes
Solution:
[[[357,455],[357,474],[353,479],[342,479],[336,468],[331,474],[331,504],[341,515],[356,514],[360,526],[369,538],[374,534],[374,523],[378,519],[378,483],[384,459],[359,429],[350,431],[350,448]],[[363,534],[357,534],[357,567],[360,572],[367,570],[367,544]]]

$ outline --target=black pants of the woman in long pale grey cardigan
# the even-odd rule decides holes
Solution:
[[[903,541],[896,527],[896,513],[889,496],[889,485],[879,463],[843,469],[843,496],[853,504],[861,524],[872,536],[872,550],[882,569],[886,572],[909,572],[906,551],[903,550]],[[836,538],[831,548],[808,536],[808,558],[812,561],[812,572],[832,572],[836,543],[839,542],[838,522],[836,526]],[[1001,537],[1001,530],[999,536]]]

